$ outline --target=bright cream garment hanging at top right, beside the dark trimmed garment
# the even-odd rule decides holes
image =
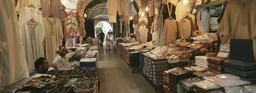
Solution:
[[[182,1],[178,2],[175,10],[176,21],[180,22],[183,16],[186,16],[185,14],[188,14],[190,10],[191,7],[189,5],[185,5]]]

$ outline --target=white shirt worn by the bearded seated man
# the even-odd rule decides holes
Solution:
[[[57,64],[57,67],[59,70],[70,70],[71,66],[68,61],[69,58],[71,58],[75,53],[68,53],[64,57],[61,57],[59,54],[54,59],[53,63]]]

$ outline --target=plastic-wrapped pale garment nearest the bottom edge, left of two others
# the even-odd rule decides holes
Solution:
[[[197,87],[202,88],[204,90],[210,90],[210,89],[218,89],[220,88],[219,85],[217,85],[217,83],[208,81],[208,80],[204,80],[204,81],[200,81],[200,82],[195,82],[194,83]]]

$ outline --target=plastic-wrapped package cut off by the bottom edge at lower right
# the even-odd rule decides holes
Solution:
[[[224,90],[226,93],[249,93],[249,91],[246,91],[244,88],[239,86],[225,87]]]

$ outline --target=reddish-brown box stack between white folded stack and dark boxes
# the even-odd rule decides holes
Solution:
[[[221,57],[207,58],[208,69],[217,73],[223,73],[224,67],[225,67],[223,65],[223,61],[225,60],[227,60],[227,58],[221,58]]]

